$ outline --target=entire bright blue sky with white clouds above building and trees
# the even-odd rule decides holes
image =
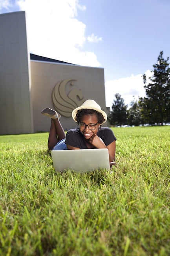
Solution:
[[[30,52],[104,68],[106,106],[144,96],[142,74],[170,57],[170,0],[0,0],[23,10]]]

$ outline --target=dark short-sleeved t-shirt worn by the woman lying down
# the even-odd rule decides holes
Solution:
[[[106,146],[108,146],[110,143],[116,140],[116,137],[113,134],[113,131],[108,127],[101,127],[97,132],[97,135],[102,139],[102,141]],[[79,128],[68,130],[66,134],[65,143],[72,147],[76,147],[80,149],[87,148],[84,142],[84,136],[81,134]]]

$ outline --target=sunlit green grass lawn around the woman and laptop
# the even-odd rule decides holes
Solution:
[[[47,133],[0,136],[0,255],[170,255],[170,126],[113,131],[119,164],[85,174]]]

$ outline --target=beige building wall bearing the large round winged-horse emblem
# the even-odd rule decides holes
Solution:
[[[104,70],[101,68],[31,61],[31,83],[35,132],[49,131],[51,121],[41,114],[46,107],[62,115],[60,122],[64,130],[77,127],[71,112],[87,99],[96,100],[106,111]],[[58,105],[52,95],[58,99]]]

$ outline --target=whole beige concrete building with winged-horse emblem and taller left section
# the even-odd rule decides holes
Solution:
[[[106,111],[104,69],[30,54],[25,12],[0,15],[0,134],[49,131],[45,107],[62,115],[64,130],[75,128],[71,112],[87,99]]]

